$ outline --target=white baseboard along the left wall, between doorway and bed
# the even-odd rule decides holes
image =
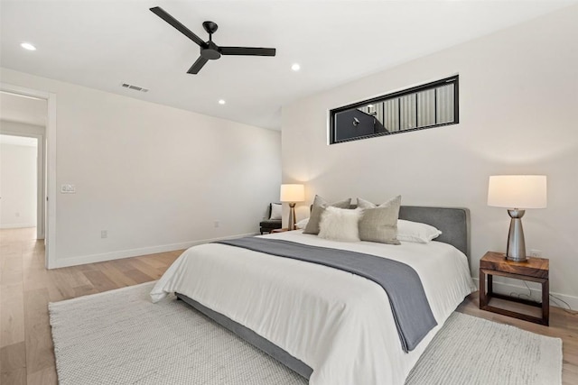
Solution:
[[[78,257],[70,257],[62,259],[56,258],[56,261],[54,261],[54,266],[51,266],[50,269],[84,265],[87,263],[120,260],[123,258],[137,257],[140,255],[156,254],[158,252],[173,252],[175,250],[188,249],[189,247],[195,246],[197,244],[210,243],[220,241],[223,239],[241,238],[244,236],[251,236],[251,235],[256,235],[256,233],[229,235],[219,238],[202,239],[183,243],[163,244],[159,246],[143,247],[139,249],[121,250],[118,252],[104,252],[101,254],[80,255]]]

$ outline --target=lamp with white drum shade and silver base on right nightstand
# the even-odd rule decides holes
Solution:
[[[509,223],[506,258],[523,262],[526,258],[526,242],[522,229],[524,208],[545,208],[545,175],[495,175],[489,177],[488,206],[506,207]]]

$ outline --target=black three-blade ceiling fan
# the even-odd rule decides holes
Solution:
[[[212,35],[217,31],[217,23],[204,22],[202,27],[209,33],[209,41],[202,41],[199,36],[191,32],[190,29],[182,25],[177,19],[167,14],[160,6],[150,8],[151,11],[163,19],[166,23],[171,24],[183,35],[196,42],[200,47],[200,57],[193,63],[187,71],[189,74],[198,74],[200,69],[209,60],[217,60],[221,55],[247,55],[247,56],[275,56],[275,48],[256,48],[256,47],[220,47],[212,40]]]

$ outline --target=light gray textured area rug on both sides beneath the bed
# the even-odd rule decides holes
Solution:
[[[84,384],[305,384],[154,282],[49,305],[59,381]],[[562,341],[454,313],[406,384],[559,385]]]

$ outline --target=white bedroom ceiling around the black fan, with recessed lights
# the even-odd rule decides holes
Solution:
[[[8,69],[280,129],[281,106],[297,98],[575,3],[2,0],[0,55]],[[277,55],[222,57],[189,75],[199,48],[149,11],[157,5],[202,39],[210,20],[219,24],[217,44],[275,47]],[[23,50],[23,41],[38,50]]]

